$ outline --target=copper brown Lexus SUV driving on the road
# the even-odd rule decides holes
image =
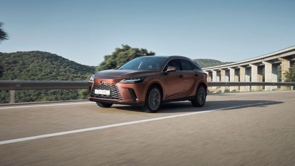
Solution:
[[[156,112],[162,103],[185,100],[202,107],[206,96],[207,74],[183,56],[137,57],[89,80],[89,100],[103,108],[137,105]]]

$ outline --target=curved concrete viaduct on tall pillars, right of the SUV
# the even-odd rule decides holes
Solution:
[[[286,81],[285,72],[294,65],[295,46],[266,55],[238,61],[235,63],[203,68],[208,74],[208,82],[278,82],[278,67],[281,67],[282,82]],[[264,71],[264,72],[263,72]],[[263,76],[264,74],[264,76]],[[212,87],[215,89],[216,87]],[[272,90],[277,86],[265,86]],[[258,91],[262,86],[230,86],[230,91]]]

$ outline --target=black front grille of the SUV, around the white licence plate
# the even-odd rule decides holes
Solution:
[[[95,94],[94,93],[95,89],[110,90],[111,94],[110,95]],[[94,82],[92,85],[90,97],[121,100],[121,94],[119,92],[118,86],[116,86],[115,83],[105,83],[104,85],[101,85],[100,83]]]

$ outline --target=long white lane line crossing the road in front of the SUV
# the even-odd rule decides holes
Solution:
[[[151,119],[137,120],[137,121],[131,121],[131,122],[124,122],[124,123],[112,124],[112,125],[105,125],[105,126],[98,126],[98,127],[90,127],[90,128],[86,128],[86,129],[78,129],[78,130],[71,130],[71,131],[65,131],[65,132],[59,132],[59,133],[52,133],[52,134],[45,134],[45,135],[39,135],[39,136],[32,136],[32,137],[25,137],[25,138],[17,138],[17,139],[3,140],[3,141],[0,141],[0,145],[8,144],[8,143],[14,143],[14,142],[21,142],[21,141],[25,141],[25,140],[33,140],[33,139],[39,139],[39,138],[55,137],[55,136],[61,136],[61,135],[66,135],[66,134],[87,132],[87,131],[92,131],[92,130],[99,130],[99,129],[106,129],[106,128],[111,128],[111,127],[117,127],[117,126],[125,126],[125,125],[130,125],[130,124],[149,122],[149,121],[154,121],[154,120],[162,120],[162,119],[168,119],[168,118],[174,118],[174,117],[180,117],[180,116],[187,116],[187,115],[193,115],[193,114],[198,114],[198,113],[206,113],[206,112],[213,112],[213,111],[220,111],[220,110],[236,109],[236,108],[240,108],[240,107],[247,107],[247,106],[254,106],[254,105],[261,105],[261,104],[275,103],[275,102],[283,102],[283,101],[294,101],[294,100],[295,99],[281,100],[281,101],[269,101],[269,102],[262,102],[262,103],[253,103],[253,104],[246,104],[246,105],[240,105],[240,106],[226,107],[226,108],[215,109],[215,110],[190,112],[190,113],[183,113],[183,114],[177,114],[177,115],[171,115],[171,116],[156,117],[156,118],[151,118]]]

